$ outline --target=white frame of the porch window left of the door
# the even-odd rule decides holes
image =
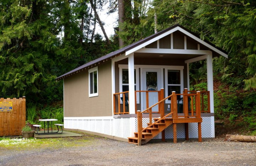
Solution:
[[[128,85],[129,84],[123,84],[123,69],[128,69],[128,64],[119,64],[118,65],[119,67],[119,91],[120,92],[123,92],[123,85]],[[134,69],[135,69],[135,73],[136,73],[136,84],[134,84],[134,86],[136,85],[136,89],[134,89],[135,91],[136,90],[139,90],[139,68],[134,66]],[[120,97],[123,97],[123,94],[120,94]],[[120,101],[121,104],[123,104],[122,100]],[[137,92],[137,101],[136,101],[137,104],[140,104],[140,93]]]

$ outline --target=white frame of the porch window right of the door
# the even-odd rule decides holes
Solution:
[[[168,66],[165,68],[165,97],[168,97],[168,86],[180,86],[180,93],[182,94],[183,90],[183,69],[184,66]],[[168,70],[180,70],[180,84],[168,84]],[[170,100],[165,100],[165,103],[171,103]]]

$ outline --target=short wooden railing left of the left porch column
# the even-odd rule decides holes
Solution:
[[[126,93],[128,93],[128,99],[129,99],[129,91],[113,94],[114,114],[129,114],[129,103],[128,103],[128,100],[125,99],[125,94]],[[123,110],[121,109],[120,94],[123,95]],[[116,95],[117,95],[117,97],[116,97]],[[117,103],[118,103],[118,106],[117,106],[118,110],[117,111],[116,111],[116,100],[117,100]],[[127,104],[125,104],[126,101],[127,101]],[[127,110],[125,109],[125,107],[127,107]]]

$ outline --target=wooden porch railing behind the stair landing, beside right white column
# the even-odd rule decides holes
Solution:
[[[188,91],[188,89],[184,89],[183,93],[196,94],[196,91]],[[201,94],[201,113],[210,113],[210,91],[200,91]],[[193,101],[193,97],[191,97],[191,101]],[[191,107],[193,108],[193,107]],[[190,110],[191,112],[191,110]]]

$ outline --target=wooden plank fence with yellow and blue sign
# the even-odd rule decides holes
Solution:
[[[8,105],[9,104],[9,105]],[[8,105],[6,107],[6,105]],[[21,135],[26,125],[26,98],[0,99],[0,136]]]

